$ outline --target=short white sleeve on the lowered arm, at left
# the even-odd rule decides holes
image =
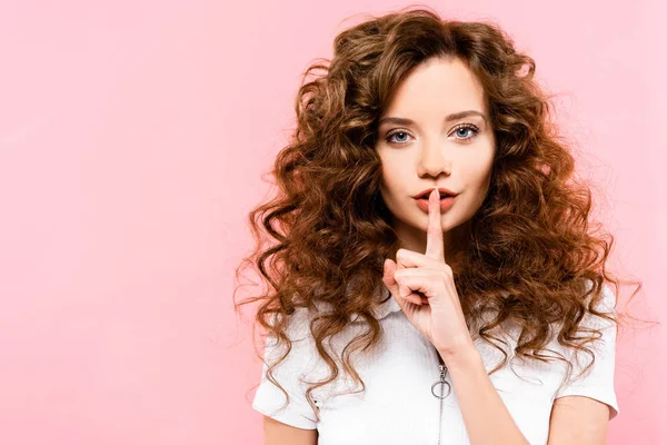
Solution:
[[[317,416],[306,399],[307,386],[301,382],[312,365],[312,342],[309,334],[307,308],[297,308],[288,323],[286,335],[292,342],[289,355],[273,367],[272,376],[289,394],[289,405],[280,388],[267,378],[267,364],[261,370],[261,383],[255,394],[252,408],[278,422],[302,429],[316,429]],[[275,364],[287,350],[287,345],[277,347],[278,340],[267,336],[265,362]]]

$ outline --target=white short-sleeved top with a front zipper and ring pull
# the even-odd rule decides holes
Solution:
[[[386,291],[385,297],[388,296]],[[614,310],[615,295],[605,286],[604,310]],[[290,395],[289,405],[282,392],[266,378],[267,366],[262,367],[261,384],[255,395],[252,407],[279,422],[299,428],[318,429],[319,445],[368,445],[368,444],[434,444],[438,443],[441,428],[441,444],[469,444],[468,434],[459,409],[456,388],[450,375],[446,380],[451,385],[450,394],[444,399],[440,421],[440,399],[431,393],[431,386],[439,382],[439,360],[432,344],[407,319],[400,307],[390,297],[380,306],[376,316],[385,332],[382,342],[372,356],[355,353],[352,365],[366,384],[366,390],[357,394],[344,392],[360,390],[352,386],[354,380],[342,370],[335,356],[340,373],[337,380],[313,390],[312,398],[319,407],[320,422],[306,400],[306,389],[311,383],[329,375],[325,362],[317,354],[315,340],[309,333],[308,309],[298,308],[292,314],[287,335],[292,340],[292,349],[287,358],[273,369],[275,378]],[[337,355],[367,327],[352,315],[352,323],[325,347]],[[515,359],[489,376],[515,423],[532,445],[546,444],[549,432],[549,416],[554,399],[567,395],[583,395],[610,406],[609,418],[619,413],[614,389],[614,365],[616,325],[611,322],[591,318],[584,319],[586,326],[603,329],[600,346],[594,348],[595,363],[581,377],[577,377],[590,362],[589,355],[580,353],[579,363],[574,353],[565,349],[554,339],[548,348],[563,354],[573,363],[569,383],[558,387],[566,376],[566,365],[561,360],[541,363]],[[510,330],[511,332],[511,330]],[[511,358],[516,337],[505,338],[510,348],[505,348]],[[275,363],[285,348],[278,350],[276,342],[267,339],[265,360]],[[502,354],[494,346],[475,338],[487,373],[502,359]],[[501,345],[502,346],[502,345]],[[591,347],[591,344],[587,344]],[[349,349],[348,349],[349,350]],[[554,355],[550,352],[542,354]],[[514,370],[512,370],[514,369]],[[300,379],[309,385],[306,385]],[[439,386],[436,394],[439,394]],[[351,390],[349,390],[351,389]]]

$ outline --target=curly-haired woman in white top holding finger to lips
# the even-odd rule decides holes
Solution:
[[[528,68],[524,70],[522,68]],[[604,444],[611,241],[496,26],[404,10],[335,40],[251,214],[273,293],[267,444]]]

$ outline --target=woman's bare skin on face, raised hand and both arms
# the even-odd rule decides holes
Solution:
[[[504,444],[522,445],[528,442],[470,342],[451,274],[455,254],[466,241],[466,226],[488,191],[495,150],[490,125],[480,117],[444,123],[445,116],[471,109],[482,111],[488,119],[482,88],[459,60],[428,61],[396,91],[384,117],[409,118],[416,123],[379,127],[376,149],[382,161],[381,195],[401,240],[396,261],[386,260],[384,281],[410,323],[447,363],[470,443],[495,445],[502,437]],[[480,132],[462,140],[472,131],[457,130],[461,123],[474,123]],[[386,142],[386,135],[395,129],[405,135],[392,136],[395,144]],[[459,192],[450,210],[440,212],[435,194],[429,212],[417,207],[412,196],[432,187]],[[601,445],[608,414],[600,402],[560,397],[554,403],[548,444]],[[267,445],[310,445],[318,441],[317,429],[265,418]]]

